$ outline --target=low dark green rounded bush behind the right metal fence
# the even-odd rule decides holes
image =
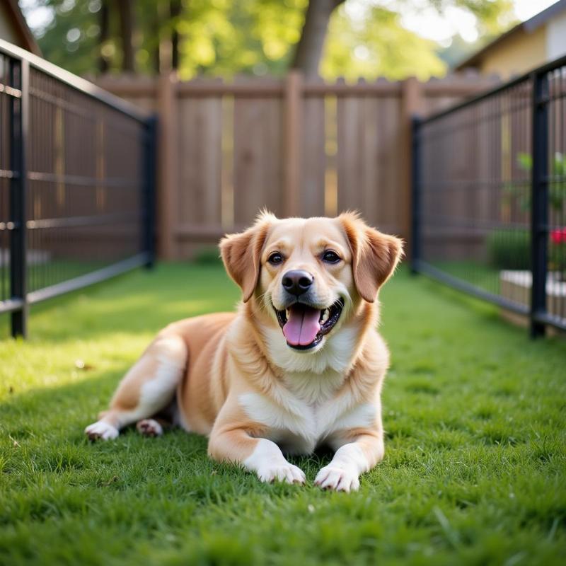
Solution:
[[[490,265],[501,270],[531,267],[531,235],[527,229],[495,229],[487,236]]]

